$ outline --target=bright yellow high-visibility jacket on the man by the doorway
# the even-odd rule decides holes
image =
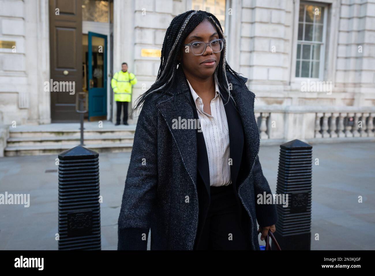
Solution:
[[[115,94],[114,100],[130,102],[132,99],[132,85],[137,83],[133,73],[118,71],[113,75],[111,86]]]

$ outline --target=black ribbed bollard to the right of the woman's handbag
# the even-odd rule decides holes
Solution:
[[[282,250],[310,250],[312,146],[300,140],[280,145],[276,193],[288,194],[288,207],[278,204],[275,238]],[[272,249],[276,250],[275,244]]]

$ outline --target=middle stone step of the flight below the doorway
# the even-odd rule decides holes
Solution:
[[[109,143],[133,143],[134,135],[86,135],[84,133],[84,143],[92,144],[109,144]],[[77,145],[80,143],[80,136],[43,136],[43,137],[9,137],[7,146],[43,146],[43,145]]]

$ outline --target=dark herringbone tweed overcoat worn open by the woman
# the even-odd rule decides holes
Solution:
[[[237,104],[237,108],[232,102],[225,104],[231,179],[243,227],[253,250],[259,250],[255,219],[261,226],[270,226],[278,216],[275,205],[256,204],[258,194],[271,190],[258,158],[255,95],[229,72],[227,78]],[[145,250],[150,227],[151,250],[193,250],[202,229],[198,217],[204,221],[210,204],[203,134],[172,128],[172,120],[179,116],[198,118],[181,66],[175,82],[164,92],[147,96],[139,114],[118,218],[118,250]],[[226,103],[228,95],[222,94]]]

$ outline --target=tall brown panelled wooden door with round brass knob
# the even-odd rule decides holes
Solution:
[[[77,122],[75,99],[82,90],[81,0],[49,0],[49,46],[52,81],[69,81],[59,83],[58,91],[50,89],[51,121]]]

